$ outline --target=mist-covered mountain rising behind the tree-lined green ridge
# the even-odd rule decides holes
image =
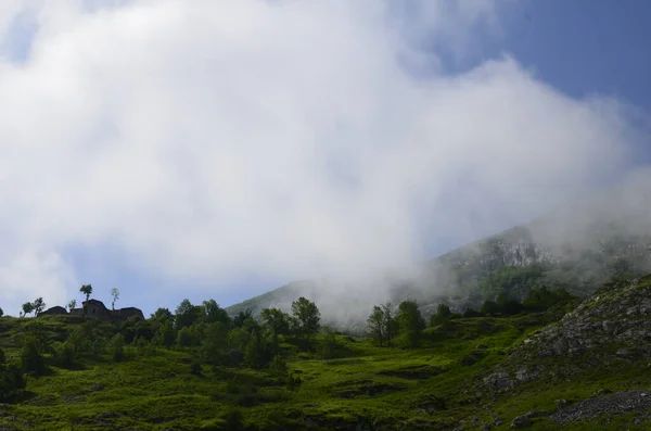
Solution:
[[[417,300],[430,314],[437,304],[478,307],[499,294],[522,299],[534,287],[563,288],[584,296],[610,280],[651,270],[651,181],[647,175],[534,221],[484,238],[403,270],[362,279],[296,281],[227,308],[289,310],[306,296],[324,320],[359,327],[373,305]]]

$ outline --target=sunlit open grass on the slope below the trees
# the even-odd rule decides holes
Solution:
[[[451,429],[461,419],[476,416],[482,422],[499,415],[508,429],[511,419],[532,409],[553,409],[553,401],[578,401],[597,390],[649,386],[647,363],[621,363],[610,369],[596,369],[570,381],[539,381],[518,392],[493,398],[476,394],[476,379],[506,357],[514,343],[539,328],[545,315],[519,318],[473,318],[454,322],[449,332],[430,328],[423,346],[414,351],[380,348],[367,340],[337,335],[345,357],[319,360],[308,354],[291,357],[289,366],[301,372],[302,385],[290,391],[273,385],[265,371],[215,369],[204,367],[203,376],[190,373],[191,355],[186,352],[157,350],[153,355],[128,350],[129,358],[112,364],[107,358],[86,364],[79,370],[53,368],[52,373],[29,379],[30,396],[15,405],[0,407],[0,426],[20,430],[193,430],[218,429],[226,406],[242,403],[242,393],[228,391],[233,378],[242,386],[256,386],[257,405],[244,407],[246,422],[270,423],[275,415],[310,418],[320,424],[354,429],[359,418],[371,416],[380,422],[404,422],[406,429]],[[13,335],[28,319],[0,319],[0,345],[10,358],[17,351]],[[60,338],[71,322],[60,317],[42,320],[53,338]],[[477,345],[487,348],[477,350]],[[285,346],[290,347],[290,345]],[[462,365],[473,358],[473,365]],[[436,376],[413,378],[409,371],[429,370]],[[407,373],[405,373],[407,370]],[[403,373],[401,373],[403,372]],[[100,383],[103,389],[93,390]],[[247,384],[248,383],[248,384]],[[241,390],[244,392],[244,390]],[[352,397],[355,395],[354,397]],[[434,397],[445,400],[446,409],[426,413],[422,408]],[[572,429],[616,430],[610,426],[577,424]],[[72,428],[74,424],[74,428]],[[650,423],[640,427],[649,427]],[[480,429],[467,423],[465,429]],[[11,429],[11,428],[10,428]],[[534,430],[561,429],[546,419],[537,419]],[[643,429],[628,424],[625,429]]]

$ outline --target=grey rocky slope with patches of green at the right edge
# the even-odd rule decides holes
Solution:
[[[651,357],[651,276],[596,292],[558,324],[524,340],[484,384],[503,392],[542,377],[646,357]],[[546,365],[550,362],[557,366]]]

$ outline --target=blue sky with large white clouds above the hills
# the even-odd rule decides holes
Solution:
[[[3,0],[0,307],[230,305],[651,161],[644,0]],[[336,294],[336,292],[333,292]]]

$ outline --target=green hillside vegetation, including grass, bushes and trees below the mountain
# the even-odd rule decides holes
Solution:
[[[500,294],[463,314],[442,303],[425,326],[416,301],[387,303],[369,307],[369,338],[322,327],[305,297],[291,314],[263,309],[260,320],[247,310],[231,317],[213,300],[122,325],[2,317],[0,401],[9,404],[0,428],[436,430],[463,420],[465,430],[507,430],[527,410],[553,410],[556,400],[651,383],[646,360],[616,359],[501,394],[478,385],[575,304],[566,291],[540,287],[522,302]],[[635,418],[563,427],[534,418],[531,429],[636,429]]]

